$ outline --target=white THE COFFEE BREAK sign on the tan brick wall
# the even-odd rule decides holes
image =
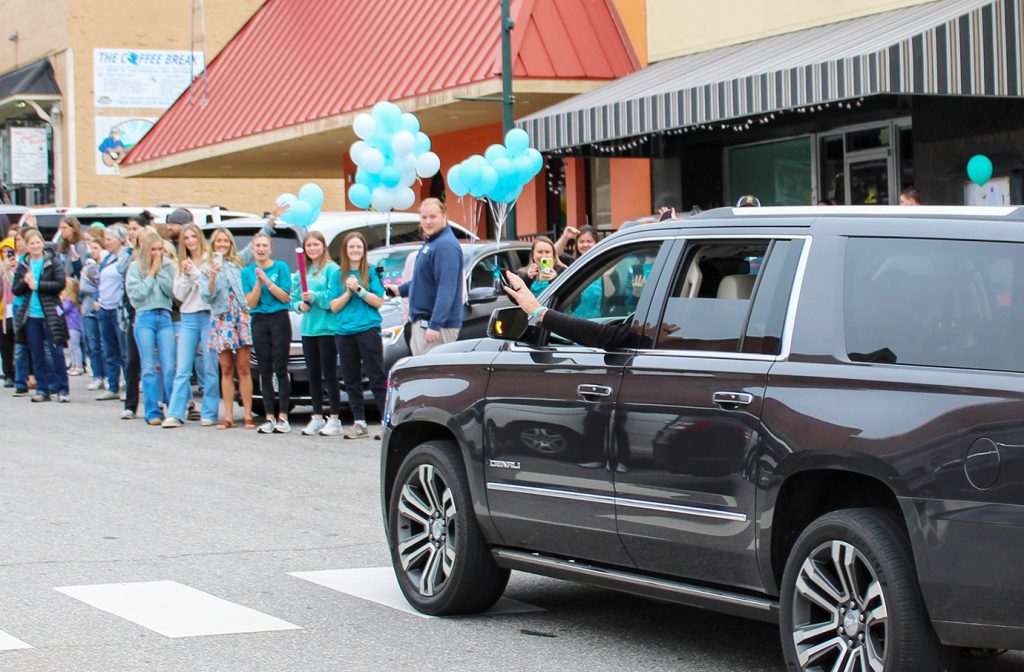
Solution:
[[[93,49],[96,107],[164,110],[187,88],[193,77],[203,72],[203,67],[200,51]]]

